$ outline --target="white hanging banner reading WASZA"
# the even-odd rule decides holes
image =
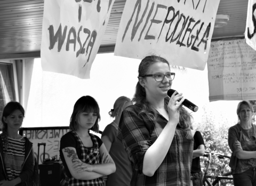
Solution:
[[[45,0],[43,70],[90,78],[113,4],[113,0]]]

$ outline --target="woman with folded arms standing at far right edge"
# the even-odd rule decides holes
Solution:
[[[238,103],[238,123],[228,130],[228,145],[232,151],[229,166],[235,186],[256,185],[256,125],[252,123],[250,102]]]

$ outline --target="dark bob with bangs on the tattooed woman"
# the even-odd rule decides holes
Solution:
[[[97,113],[97,120],[90,130],[98,133],[99,132],[98,122],[100,120],[100,108],[96,100],[91,96],[82,96],[76,101],[74,105],[73,113],[70,117],[70,124],[69,124],[70,130],[74,130],[74,131],[77,130],[78,114],[83,112]]]

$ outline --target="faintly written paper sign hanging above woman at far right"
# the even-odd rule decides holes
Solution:
[[[210,102],[256,99],[256,51],[244,39],[212,42],[207,67]]]

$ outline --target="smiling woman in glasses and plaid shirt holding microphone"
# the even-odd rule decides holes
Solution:
[[[194,139],[182,94],[167,96],[174,75],[159,56],[139,65],[135,105],[124,109],[117,134],[131,157],[131,185],[190,185]]]

